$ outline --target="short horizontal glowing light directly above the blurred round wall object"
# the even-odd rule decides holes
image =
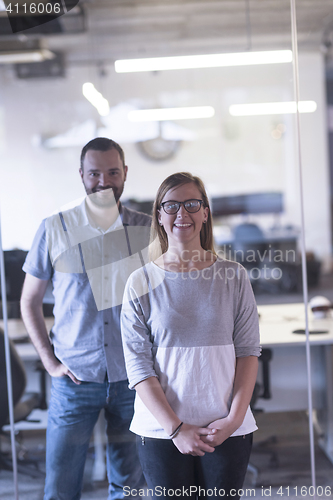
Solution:
[[[212,106],[196,106],[191,108],[162,108],[130,111],[128,119],[131,122],[155,122],[165,120],[190,120],[195,118],[210,118],[214,116]]]

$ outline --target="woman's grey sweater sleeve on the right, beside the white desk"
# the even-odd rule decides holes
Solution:
[[[246,270],[239,266],[239,288],[233,340],[237,358],[260,356],[259,317]]]

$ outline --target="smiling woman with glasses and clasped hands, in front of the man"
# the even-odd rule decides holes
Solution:
[[[153,261],[130,276],[122,312],[137,393],[131,430],[150,494],[239,498],[257,429],[249,408],[260,355],[251,285],[242,266],[214,252],[198,177],[183,172],[162,183],[152,240],[160,255],[155,248]]]

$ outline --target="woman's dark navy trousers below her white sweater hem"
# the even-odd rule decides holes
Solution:
[[[141,438],[137,446],[150,496],[239,500],[252,448],[252,433],[226,439],[203,457],[182,455],[171,439]]]

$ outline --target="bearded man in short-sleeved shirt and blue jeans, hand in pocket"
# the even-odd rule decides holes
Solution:
[[[87,197],[44,220],[23,270],[22,317],[52,376],[44,500],[81,495],[89,440],[99,412],[107,421],[109,500],[123,487],[142,485],[129,424],[128,389],[120,338],[120,311],[129,274],[144,264],[151,218],[121,206],[127,176],[124,153],[97,138],[81,153]],[[46,330],[42,302],[53,283],[55,323]]]

